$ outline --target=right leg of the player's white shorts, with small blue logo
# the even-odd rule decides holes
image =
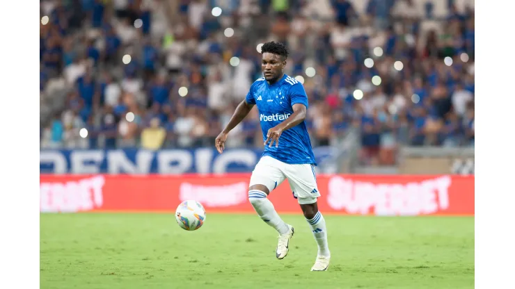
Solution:
[[[317,201],[320,192],[313,165],[287,165],[284,173],[299,204],[313,204]]]

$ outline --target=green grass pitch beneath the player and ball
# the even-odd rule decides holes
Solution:
[[[322,212],[323,213],[323,212]],[[173,214],[40,215],[40,288],[474,288],[474,217],[326,215],[331,265],[301,214],[290,252],[257,215],[208,214],[184,231]]]

